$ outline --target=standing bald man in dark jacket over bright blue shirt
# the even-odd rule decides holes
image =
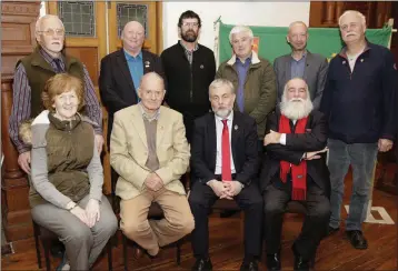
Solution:
[[[161,77],[163,68],[160,58],[142,50],[145,29],[138,21],[126,23],[121,33],[123,48],[101,60],[99,89],[108,109],[108,148],[112,132],[113,114],[120,109],[139,102],[138,88],[143,74],[155,71]]]

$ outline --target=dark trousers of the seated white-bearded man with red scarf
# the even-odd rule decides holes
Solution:
[[[272,183],[263,193],[267,254],[273,254],[280,250],[283,213],[290,200],[291,192],[289,190],[278,189]],[[312,183],[307,188],[306,201],[300,203],[304,204],[307,213],[295,247],[305,260],[310,260],[326,234],[330,218],[330,202],[324,191]]]

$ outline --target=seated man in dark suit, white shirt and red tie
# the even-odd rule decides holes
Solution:
[[[257,271],[261,247],[262,199],[258,189],[258,140],[255,119],[232,111],[233,84],[217,79],[209,87],[213,113],[195,121],[191,147],[195,217],[191,235],[197,261],[193,271],[212,269],[209,258],[208,213],[217,199],[236,200],[245,211],[245,259],[241,271]]]

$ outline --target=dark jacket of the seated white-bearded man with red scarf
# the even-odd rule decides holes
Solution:
[[[278,131],[280,112],[277,110],[267,121],[266,133],[270,130]],[[290,127],[293,123],[290,122]],[[314,110],[308,118],[306,133],[286,134],[286,145],[269,144],[266,147],[267,153],[262,162],[260,188],[263,192],[275,174],[279,174],[280,161],[288,161],[292,164],[299,164],[305,152],[319,151],[327,143],[327,121],[324,113]],[[307,161],[307,174],[311,177],[315,183],[330,194],[329,170],[326,165],[326,153],[320,159]]]

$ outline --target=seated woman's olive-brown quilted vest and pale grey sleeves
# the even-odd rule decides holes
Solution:
[[[52,203],[64,209],[87,194],[101,200],[103,171],[88,118],[77,114],[76,120],[61,121],[46,110],[34,119],[30,132],[31,208]]]

